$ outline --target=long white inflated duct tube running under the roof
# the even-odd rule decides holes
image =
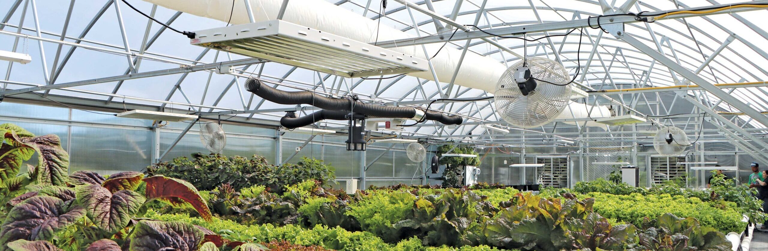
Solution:
[[[283,0],[246,1],[250,1],[255,22],[276,19],[280,12],[280,5],[283,4]],[[233,25],[250,23],[247,12],[245,12],[245,2],[241,0],[234,1],[234,6],[230,0],[144,0],[144,2],[150,2],[204,18],[213,18],[224,22],[229,21]],[[379,26],[378,21],[363,17],[355,12],[351,12],[349,9],[339,7],[324,0],[290,0],[282,20],[366,43],[375,42],[377,37],[379,41],[414,37],[396,28],[390,28],[386,25]],[[426,47],[427,54],[424,53],[420,45],[389,49],[427,59],[439,51],[442,44],[435,43],[424,46]],[[461,50],[445,47],[439,54],[435,55],[435,58],[432,58],[432,67],[435,70],[438,81],[447,83],[452,80],[461,54]],[[506,69],[504,64],[493,58],[475,53],[467,53],[453,82],[467,88],[494,93],[498,78],[502,76]],[[407,75],[435,81],[430,71],[412,72]],[[590,110],[591,112],[589,112]],[[591,107],[584,107],[584,104],[571,103],[565,108],[559,118],[589,117],[587,114],[590,114],[591,117],[610,116],[607,107],[598,106],[591,109]],[[577,124],[571,121],[564,123]],[[605,125],[588,121],[587,126],[604,127]]]

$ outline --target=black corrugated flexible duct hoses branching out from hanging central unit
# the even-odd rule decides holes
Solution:
[[[324,111],[318,111],[305,117],[296,117],[296,114],[290,113],[286,114],[285,117],[280,119],[280,124],[283,124],[283,121],[285,121],[288,126],[283,124],[283,127],[287,128],[300,124],[303,124],[302,126],[306,126],[317,121],[322,121],[323,119],[345,120],[344,116],[349,114],[350,108],[356,113],[366,114],[369,117],[416,117],[416,108],[414,107],[393,107],[366,104],[360,101],[353,101],[349,98],[324,97],[319,94],[314,94],[310,91],[281,91],[263,84],[262,81],[259,81],[256,78],[248,78],[248,80],[245,82],[245,88],[253,94],[256,94],[257,96],[262,97],[267,101],[272,101],[277,104],[311,104],[313,106],[326,109]],[[442,112],[435,114],[425,112],[425,119],[430,121],[438,121],[442,124],[462,124],[462,117],[457,115],[443,114]]]

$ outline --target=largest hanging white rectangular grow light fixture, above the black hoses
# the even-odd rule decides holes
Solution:
[[[192,45],[347,78],[427,71],[427,61],[283,20],[195,31]]]

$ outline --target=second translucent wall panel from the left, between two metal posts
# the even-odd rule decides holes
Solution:
[[[151,130],[72,127],[69,170],[141,171],[152,161],[151,136]]]

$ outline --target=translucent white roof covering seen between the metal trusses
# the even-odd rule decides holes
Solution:
[[[0,2],[0,15],[4,15],[8,10],[20,2],[15,12],[8,18],[7,23],[0,24],[4,31],[18,31],[18,25],[22,23],[21,17],[24,15],[25,0],[8,0]],[[180,67],[180,64],[204,64],[212,62],[230,61],[244,58],[237,54],[227,54],[214,50],[201,54],[204,48],[189,45],[189,39],[173,31],[161,31],[161,25],[151,23],[147,30],[147,18],[134,12],[126,5],[121,5],[121,17],[124,24],[123,39],[118,15],[115,12],[111,0],[104,1],[75,1],[65,41],[81,41],[82,45],[89,45],[98,48],[106,48],[114,51],[125,51],[127,42],[128,47],[134,54],[144,54],[160,58],[161,61],[152,59],[141,59],[138,63],[138,69],[135,72],[159,71]],[[153,12],[153,5],[138,0],[129,0],[132,5],[139,8],[142,12]],[[389,6],[383,10],[384,15],[379,15],[381,8],[379,1],[372,1],[369,9],[365,6],[369,0],[329,0],[342,8],[349,9],[358,15],[365,15],[367,18],[376,20],[381,17],[380,24],[389,27],[398,28],[415,35],[415,28],[412,27],[414,21],[418,25],[421,35],[435,34],[437,28],[432,17],[415,10],[405,8],[403,5],[389,1]],[[409,1],[422,8],[427,8],[424,1]],[[450,16],[454,11],[456,2],[453,0],[432,0],[434,11],[439,15]],[[472,24],[478,16],[477,12],[485,0],[464,0],[458,9],[458,16],[455,18],[459,24]],[[610,1],[609,1],[610,2]],[[726,4],[742,1],[725,0],[647,0],[635,3],[629,12],[658,11],[676,8],[688,8],[696,6],[707,6]],[[67,2],[68,3],[68,2]],[[532,3],[532,4],[531,4]],[[624,3],[624,0],[617,0],[615,6]],[[679,5],[676,5],[679,4]],[[35,24],[35,18],[31,12],[31,6],[28,6],[27,13],[23,20],[25,35],[37,36],[36,27],[41,29],[43,38],[58,40],[61,36],[65,20],[68,17],[68,6],[58,0],[37,0],[37,12],[39,24]],[[532,6],[531,6],[532,5]],[[94,19],[100,10],[108,6],[100,18],[94,22],[83,38],[79,35],[87,28],[91,20]],[[488,0],[485,2],[485,9],[480,15],[477,23],[481,28],[499,28],[505,26],[531,25],[541,22],[566,21],[571,19],[588,18],[602,14],[601,6],[598,1],[591,0],[534,0],[528,1],[508,1],[508,0]],[[765,10],[754,12],[740,12],[733,15],[709,15],[704,17],[693,17],[685,19],[660,20],[652,24],[633,23],[625,25],[625,30],[636,38],[649,45],[651,48],[659,48],[670,58],[679,61],[685,68],[695,71],[701,64],[709,58],[723,44],[723,42],[732,39],[726,48],[703,68],[700,77],[711,83],[735,83],[764,81],[768,78],[768,70],[762,66],[768,65],[768,32],[758,27],[764,23]],[[217,28],[226,25],[222,21],[216,21],[210,18],[201,18],[184,13],[177,14],[176,11],[163,7],[157,7],[154,10],[154,16],[161,21],[172,21],[170,25],[182,31],[194,31],[206,28]],[[4,16],[0,16],[4,17]],[[441,24],[445,25],[445,24]],[[450,27],[449,27],[450,28]],[[549,35],[562,35],[567,31],[550,31]],[[157,39],[152,40],[157,35]],[[618,40],[611,35],[606,35],[598,29],[584,28],[581,45],[579,45],[579,36],[581,31],[574,31],[566,37],[554,37],[551,39],[542,39],[536,42],[524,43],[518,39],[493,38],[499,44],[515,51],[517,54],[527,53],[539,57],[556,59],[553,51],[557,51],[559,59],[563,62],[566,69],[573,73],[578,66],[582,69],[577,81],[589,84],[597,90],[610,90],[616,88],[640,88],[640,87],[658,87],[667,85],[684,84],[683,78],[677,74],[670,74],[670,70],[653,60],[644,53],[627,45],[624,41]],[[541,35],[533,36],[541,37]],[[80,40],[81,39],[81,40]],[[0,50],[11,51],[15,37],[10,35],[0,35]],[[147,41],[152,41],[147,45]],[[379,41],[387,41],[391,38],[379,38]],[[594,47],[595,41],[599,40],[599,45]],[[446,46],[451,48],[464,49],[466,41],[452,41]],[[31,55],[33,61],[29,64],[13,64],[8,71],[8,62],[0,61],[0,71],[2,71],[3,80],[8,80],[7,88],[28,88],[34,85],[50,84],[46,82],[46,74],[53,74],[55,82],[53,84],[67,83],[71,81],[83,81],[94,78],[104,78],[119,76],[129,71],[128,62],[137,61],[136,57],[127,57],[123,54],[106,53],[102,51],[77,48],[63,62],[65,55],[71,50],[71,46],[63,45],[59,50],[59,45],[51,42],[42,42],[43,48],[39,48],[39,43],[33,39],[18,39],[18,51],[24,51]],[[554,46],[554,48],[552,48]],[[42,64],[41,51],[45,51],[45,68]],[[497,61],[514,64],[519,61],[513,54],[502,51],[499,48],[485,41],[472,40],[468,53],[482,54]],[[199,59],[198,59],[199,58]],[[579,60],[578,60],[579,59]],[[58,60],[58,61],[57,61]],[[64,65],[61,68],[61,65]],[[54,66],[56,69],[53,69]],[[56,70],[61,68],[60,74]],[[383,80],[362,80],[360,78],[342,78],[324,73],[317,73],[302,68],[293,68],[292,66],[276,63],[253,64],[250,66],[237,67],[238,71],[253,76],[259,76],[267,80],[280,81],[283,85],[281,90],[298,91],[299,89],[290,88],[290,86],[300,89],[314,88],[326,93],[333,93],[339,96],[347,94],[350,89],[361,96],[371,97],[375,95],[381,101],[413,101],[423,99],[433,99],[441,97],[482,97],[483,91],[468,90],[468,88],[454,86],[452,93],[444,94],[449,89],[450,79],[440,79],[441,83],[435,84],[434,81],[428,81],[422,78],[412,76],[402,76]],[[134,72],[131,72],[134,73]],[[182,76],[184,78],[182,79]],[[234,82],[233,82],[234,81]],[[292,107],[271,102],[261,102],[259,97],[253,97],[247,91],[244,91],[244,78],[234,78],[227,74],[211,74],[207,71],[197,71],[189,74],[171,74],[151,78],[132,79],[121,83],[120,88],[116,88],[118,81],[105,82],[102,84],[90,84],[75,87],[73,89],[80,91],[55,90],[51,94],[65,95],[69,97],[87,97],[101,100],[108,100],[113,92],[115,94],[127,97],[112,97],[113,101],[161,105],[160,101],[165,101],[168,97],[170,101],[178,103],[188,103],[194,105],[205,105],[223,107],[232,110],[243,109],[270,109]],[[181,91],[177,91],[175,85],[180,83]],[[232,83],[232,84],[230,84]],[[0,84],[0,88],[6,86]],[[740,88],[732,92],[740,100],[747,102],[758,111],[768,111],[768,92],[765,88]],[[207,90],[207,91],[206,91]],[[703,91],[696,91],[697,94],[705,94]],[[694,91],[690,91],[694,94]],[[185,97],[186,95],[186,97]],[[655,95],[655,94],[648,94]],[[660,94],[659,97],[673,97],[670,94]],[[707,95],[706,100],[711,104],[717,103],[719,99],[713,95]],[[631,101],[624,101],[631,102]],[[243,107],[245,104],[245,107]],[[677,104],[684,104],[683,101]],[[174,105],[179,107],[179,105]],[[435,105],[432,108],[440,107],[446,111],[456,114],[462,114],[474,117],[474,121],[496,121],[494,116],[494,107],[492,101],[478,101],[475,104],[455,103],[453,105]],[[720,104],[721,111],[734,111],[726,103]],[[209,109],[204,109],[208,111]],[[219,111],[214,109],[214,111]],[[257,114],[253,117],[277,120],[281,116],[280,112],[271,114]],[[662,112],[664,114],[664,112]],[[740,116],[743,121],[750,121],[749,117]],[[756,121],[750,121],[753,126],[760,126]],[[762,126],[760,126],[762,127]],[[407,130],[417,131],[420,134],[436,134],[439,127],[409,127]],[[447,134],[482,134],[485,130],[475,126],[445,128]],[[445,134],[444,133],[444,134]]]

